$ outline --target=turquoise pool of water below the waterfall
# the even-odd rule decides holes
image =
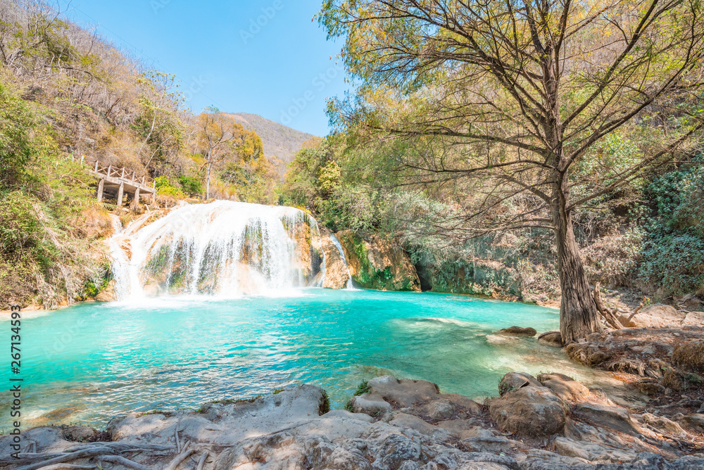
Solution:
[[[380,374],[496,395],[506,372],[548,370],[560,354],[534,338],[491,332],[548,331],[558,322],[543,307],[433,293],[306,289],[281,298],[82,304],[23,322],[23,407],[33,424],[99,426],[124,412],[199,407],[303,382],[343,407],[361,380]],[[0,401],[2,414],[7,406]]]

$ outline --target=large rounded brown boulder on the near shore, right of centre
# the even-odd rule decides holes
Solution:
[[[565,428],[567,415],[562,400],[543,386],[524,386],[487,403],[491,419],[510,433],[537,438]]]

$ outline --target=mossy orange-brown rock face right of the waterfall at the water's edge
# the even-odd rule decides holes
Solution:
[[[379,291],[420,291],[408,253],[395,241],[375,234],[337,233],[355,284]]]

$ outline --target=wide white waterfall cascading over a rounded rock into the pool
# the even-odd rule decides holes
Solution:
[[[184,205],[131,232],[111,240],[120,300],[276,295],[308,285],[324,263],[315,219],[296,208],[231,201]]]

